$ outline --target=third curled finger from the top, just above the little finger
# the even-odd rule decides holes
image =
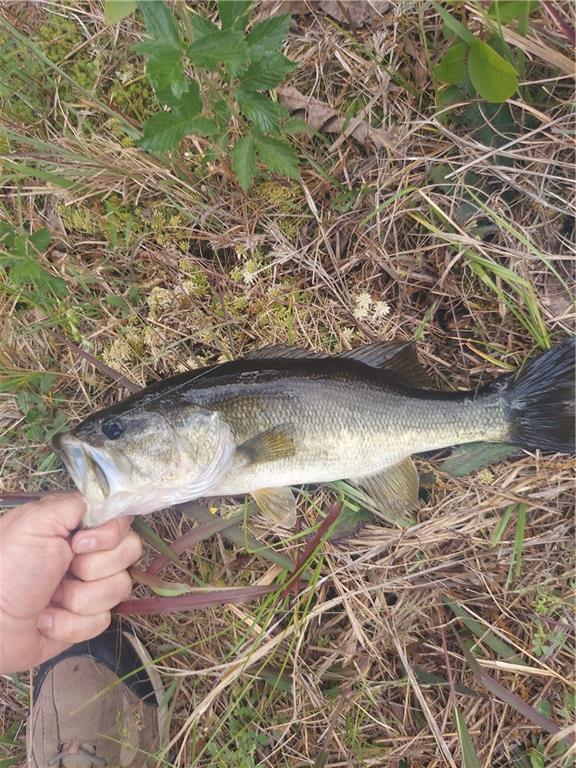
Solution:
[[[76,581],[65,579],[52,598],[52,604],[65,608],[79,616],[109,611],[132,592],[132,579],[128,571],[98,581]]]

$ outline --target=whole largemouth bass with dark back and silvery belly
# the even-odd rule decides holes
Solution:
[[[478,441],[575,452],[575,338],[470,391],[438,390],[410,342],[266,347],[156,382],[53,447],[86,501],[84,527],[246,495],[291,527],[294,486],[343,479],[400,514],[418,504],[414,454]]]

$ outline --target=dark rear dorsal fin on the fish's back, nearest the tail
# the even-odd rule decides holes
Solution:
[[[348,357],[372,368],[393,371],[406,384],[418,389],[434,388],[434,382],[418,360],[415,344],[410,341],[377,341],[342,352],[338,357]]]

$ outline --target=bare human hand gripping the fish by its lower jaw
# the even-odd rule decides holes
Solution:
[[[31,669],[109,625],[142,554],[132,518],[76,533],[79,493],[58,493],[0,518],[0,672]]]

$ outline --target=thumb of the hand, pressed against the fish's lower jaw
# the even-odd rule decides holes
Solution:
[[[37,536],[68,538],[86,511],[82,496],[74,492],[50,493],[20,510],[23,524],[34,526]]]

